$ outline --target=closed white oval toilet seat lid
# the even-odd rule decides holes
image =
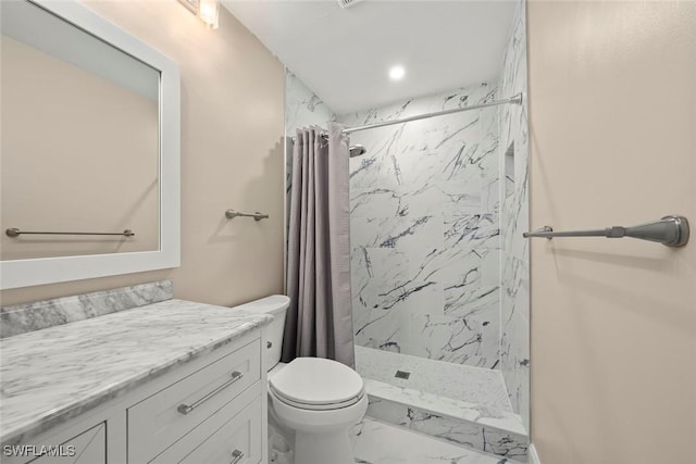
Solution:
[[[321,358],[297,358],[269,379],[273,391],[302,405],[352,404],[364,394],[362,377],[350,367]]]

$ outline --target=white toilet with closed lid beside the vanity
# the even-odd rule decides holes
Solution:
[[[355,464],[349,430],[368,410],[360,375],[332,360],[298,358],[281,363],[290,299],[276,294],[237,306],[274,316],[268,326],[269,410],[295,431],[295,464]]]

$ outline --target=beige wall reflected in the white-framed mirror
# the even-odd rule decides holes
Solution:
[[[158,250],[157,100],[0,37],[0,230],[135,231],[0,234],[0,260]]]

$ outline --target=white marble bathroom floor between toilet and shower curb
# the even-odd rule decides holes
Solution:
[[[504,464],[509,460],[365,417],[353,427],[356,464]]]

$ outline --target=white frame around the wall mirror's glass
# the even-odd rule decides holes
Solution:
[[[160,72],[160,247],[156,251],[1,261],[0,289],[178,267],[181,264],[181,77],[178,65],[76,1],[27,1]]]

